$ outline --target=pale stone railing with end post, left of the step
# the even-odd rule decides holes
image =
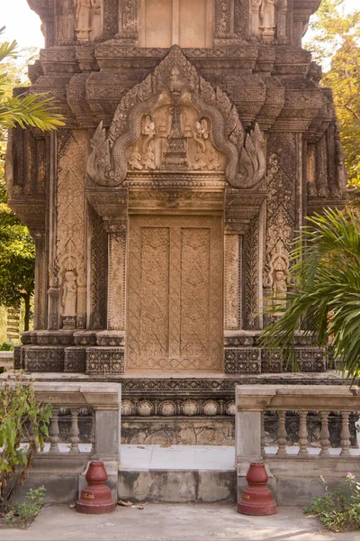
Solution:
[[[108,485],[117,494],[121,442],[121,385],[35,381],[41,402],[50,403],[49,443],[35,457],[22,491],[43,484],[47,501],[74,501],[85,484],[87,465],[105,463]]]

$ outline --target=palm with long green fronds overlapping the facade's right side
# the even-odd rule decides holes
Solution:
[[[262,344],[280,350],[296,370],[294,337],[303,328],[313,344],[332,345],[346,381],[355,381],[360,375],[360,211],[329,209],[308,222],[291,254],[293,288],[284,315],[266,327]]]

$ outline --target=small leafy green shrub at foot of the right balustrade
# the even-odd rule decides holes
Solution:
[[[325,496],[314,498],[305,514],[316,515],[320,522],[333,532],[345,532],[360,528],[360,482],[347,473],[345,484],[335,491],[329,491],[323,477]]]

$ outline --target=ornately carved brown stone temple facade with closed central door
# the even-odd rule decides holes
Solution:
[[[344,204],[332,97],[301,47],[320,0],[28,2],[46,35],[31,92],[67,125],[9,137],[10,205],[37,246],[16,365],[117,378],[125,417],[229,418],[234,378],[286,371],[258,335],[295,232]],[[297,355],[327,368],[302,337]]]

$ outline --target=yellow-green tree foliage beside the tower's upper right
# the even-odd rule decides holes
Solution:
[[[360,11],[347,14],[345,0],[323,0],[311,31],[307,48],[324,68],[321,85],[333,90],[348,179],[360,185]]]

